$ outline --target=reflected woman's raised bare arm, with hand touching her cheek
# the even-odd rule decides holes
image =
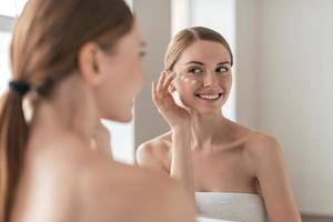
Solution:
[[[170,176],[180,181],[194,200],[191,131],[189,130],[191,129],[191,118],[186,110],[174,102],[169,91],[172,80],[173,73],[162,72],[158,85],[152,85],[152,100],[160,114],[169,123],[172,132]],[[158,145],[160,145],[161,150],[163,149],[161,142],[160,144],[159,142],[149,142],[141,145],[137,153],[138,163],[153,169],[164,169],[165,171],[161,161],[162,158],[158,157],[157,149],[154,149]]]

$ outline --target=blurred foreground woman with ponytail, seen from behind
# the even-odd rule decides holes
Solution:
[[[0,221],[194,221],[178,182],[114,162],[100,119],[128,122],[142,39],[122,0],[30,0],[0,110]]]

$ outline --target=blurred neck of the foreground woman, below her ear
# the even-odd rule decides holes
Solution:
[[[50,99],[41,98],[31,125],[41,133],[68,131],[89,140],[99,119],[91,89],[78,74],[71,74],[57,83]]]

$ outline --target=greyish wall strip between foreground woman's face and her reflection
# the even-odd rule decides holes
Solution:
[[[143,67],[144,89],[135,101],[135,148],[170,130],[151,100],[151,82],[157,82],[163,70],[163,58],[171,37],[171,1],[134,0],[134,13],[147,44]]]

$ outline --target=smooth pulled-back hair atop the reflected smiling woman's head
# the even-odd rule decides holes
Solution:
[[[173,70],[173,65],[180,59],[183,51],[195,40],[206,40],[221,43],[230,54],[231,64],[233,56],[228,41],[219,32],[205,27],[192,27],[178,32],[168,46],[164,57],[164,69]]]

